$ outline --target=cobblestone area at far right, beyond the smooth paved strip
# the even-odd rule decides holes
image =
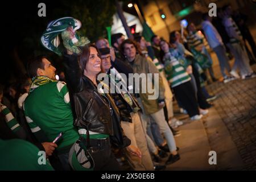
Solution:
[[[256,169],[256,78],[208,86],[218,114],[241,155],[243,169]]]

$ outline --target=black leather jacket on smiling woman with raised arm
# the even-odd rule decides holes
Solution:
[[[96,86],[82,75],[77,55],[64,55],[65,78],[73,106],[74,125],[101,134],[110,135],[117,147],[130,145],[130,139],[123,135],[120,117],[113,98],[98,93]]]

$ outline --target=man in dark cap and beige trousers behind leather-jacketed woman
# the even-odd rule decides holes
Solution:
[[[117,86],[119,81],[113,79],[112,74],[117,75],[119,73],[111,64],[110,49],[100,48],[99,51],[101,53],[102,67],[105,69],[105,73],[107,73],[106,80],[109,78],[117,90],[119,89]],[[128,91],[126,93],[112,93],[112,97],[120,112],[122,128],[126,136],[131,140],[131,146],[137,147],[139,151],[138,155],[133,155],[129,148],[125,150],[127,158],[133,163],[133,169],[139,171],[153,170],[154,165],[147,148],[146,137],[139,115],[140,108],[136,99]]]

